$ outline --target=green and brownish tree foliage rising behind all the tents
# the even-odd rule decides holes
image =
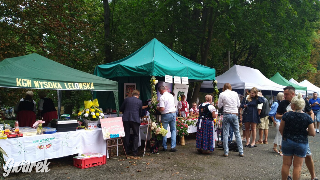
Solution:
[[[320,86],[319,13],[318,0],[0,0],[0,61],[38,53],[93,73],[157,38],[217,76],[229,51],[231,66]]]

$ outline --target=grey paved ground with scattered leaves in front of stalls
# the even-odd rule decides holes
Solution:
[[[279,180],[281,179],[282,157],[271,152],[276,134],[275,127],[269,126],[268,144],[257,144],[258,147],[244,148],[244,157],[238,152],[229,152],[223,157],[223,149],[215,148],[211,154],[199,154],[196,151],[196,135],[186,136],[186,145],[178,145],[177,152],[163,152],[145,157],[115,155],[112,149],[111,159],[106,165],[80,169],[73,166],[73,156],[49,160],[50,171],[47,173],[11,173],[7,179],[196,179],[196,180]],[[319,136],[309,136],[312,158],[315,162],[316,176],[320,177]],[[257,137],[258,138],[258,137]],[[144,141],[141,142],[144,144]],[[170,147],[170,141],[168,140]],[[143,151],[142,147],[139,149]],[[120,154],[122,151],[120,151]],[[132,154],[131,154],[132,155]],[[292,173],[292,167],[290,169]],[[301,179],[310,179],[305,163]]]

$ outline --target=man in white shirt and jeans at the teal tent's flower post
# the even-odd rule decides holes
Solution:
[[[164,86],[158,87],[159,93],[162,95],[159,100],[157,110],[161,112],[161,123],[164,129],[170,125],[171,131],[171,152],[178,151],[176,147],[176,108],[174,107],[174,97],[168,93]],[[162,151],[167,151],[167,136],[162,139]]]

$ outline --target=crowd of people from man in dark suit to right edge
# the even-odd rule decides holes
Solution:
[[[196,150],[202,154],[209,154],[214,151],[215,139],[213,122],[214,119],[217,118],[217,111],[215,102],[212,102],[212,96],[207,94],[205,96],[205,102],[200,103],[199,108],[197,108],[196,103],[192,103],[192,107],[189,109],[186,97],[182,94],[181,101],[179,101],[176,108],[173,94],[168,93],[164,86],[159,86],[158,91],[162,95],[159,106],[157,106],[157,110],[159,110],[162,115],[162,126],[167,129],[168,125],[170,125],[170,151],[178,151],[176,149],[175,129],[177,115],[181,117],[198,115],[198,121],[196,123]],[[317,98],[317,93],[313,94],[312,99],[307,100],[302,98],[301,94],[296,95],[294,87],[287,86],[284,88],[283,93],[280,92],[276,95],[276,101],[272,103],[270,107],[268,100],[255,87],[252,87],[245,98],[239,96],[235,91],[232,91],[229,83],[223,86],[222,91],[217,101],[217,108],[219,108],[219,114],[223,114],[221,133],[223,141],[221,142],[223,142],[224,157],[229,156],[229,142],[232,141],[229,137],[232,137],[232,134],[235,135],[236,146],[239,152],[238,155],[240,157],[244,157],[244,148],[246,147],[254,148],[257,147],[256,144],[268,144],[269,122],[272,121],[277,131],[271,151],[283,157],[281,169],[282,180],[300,179],[303,160],[306,162],[311,180],[317,180],[308,144],[308,135],[315,136],[316,133],[319,133],[320,99]],[[142,102],[138,99],[140,96],[139,93],[133,94],[131,98],[135,99],[132,99],[132,102],[139,104],[135,110],[139,112],[136,114],[136,119],[139,120]],[[123,107],[135,107],[132,103],[129,103],[131,98],[127,98],[122,108],[120,108],[120,110],[124,110],[124,124],[127,123],[125,122],[126,114],[130,114],[130,112],[128,113],[128,110]],[[242,123],[244,139],[241,139],[240,123]],[[128,128],[130,130],[130,127]],[[259,129],[259,137],[256,137],[256,128]],[[138,133],[134,132],[135,141],[137,137]],[[125,139],[125,143],[126,141],[128,140]],[[243,141],[245,141],[245,144],[242,143]],[[277,148],[278,146],[279,149]],[[162,151],[167,151],[166,136],[163,137],[162,147]],[[126,148],[126,151],[129,150]],[[140,155],[137,154],[137,146],[134,146],[133,151],[134,155]],[[291,176],[289,169],[292,164],[293,173]]]

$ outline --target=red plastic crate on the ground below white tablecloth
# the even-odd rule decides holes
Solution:
[[[102,164],[106,164],[106,155],[103,155],[102,157],[91,157],[91,158],[85,158],[85,159],[76,159],[73,158],[73,165],[77,168],[90,168],[94,166],[99,166]]]

